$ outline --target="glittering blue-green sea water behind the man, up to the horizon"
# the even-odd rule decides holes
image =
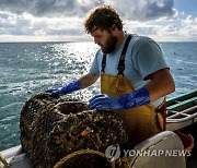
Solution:
[[[159,43],[176,84],[171,98],[197,89],[197,43]],[[20,144],[20,112],[36,93],[89,72],[97,50],[93,43],[0,44],[0,151]],[[100,82],[70,96],[89,100]]]

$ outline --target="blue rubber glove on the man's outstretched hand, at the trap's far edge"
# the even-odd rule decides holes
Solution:
[[[73,91],[78,91],[81,88],[81,84],[79,83],[78,80],[72,81],[71,83],[69,83],[68,85],[65,85],[61,88],[51,88],[51,89],[47,89],[47,93],[53,93],[53,94],[57,94],[57,95],[66,95],[69,94]]]

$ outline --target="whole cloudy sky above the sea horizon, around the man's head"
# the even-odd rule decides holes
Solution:
[[[158,41],[197,41],[197,0],[0,0],[0,43],[91,40],[83,22],[111,4],[124,29]]]

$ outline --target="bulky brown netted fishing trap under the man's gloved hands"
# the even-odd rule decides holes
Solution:
[[[34,167],[43,168],[54,167],[63,157],[81,149],[104,154],[109,145],[125,144],[128,140],[123,121],[114,111],[90,110],[81,100],[47,93],[26,100],[21,111],[20,129],[24,152]],[[81,161],[84,167],[93,168],[96,161],[104,159],[91,153],[72,156],[65,163],[69,167]],[[92,161],[84,161],[85,158]]]

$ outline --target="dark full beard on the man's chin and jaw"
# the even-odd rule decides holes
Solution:
[[[105,46],[101,46],[103,53],[111,53],[115,50],[117,44],[117,37],[109,34],[109,37]]]

